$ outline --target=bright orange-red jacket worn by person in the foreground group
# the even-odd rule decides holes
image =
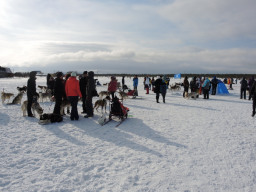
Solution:
[[[79,87],[79,81],[76,79],[76,77],[69,77],[66,81],[65,85],[66,95],[69,96],[79,96],[82,97],[80,87]]]

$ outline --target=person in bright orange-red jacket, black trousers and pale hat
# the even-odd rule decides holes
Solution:
[[[71,121],[78,120],[79,115],[77,111],[77,103],[78,103],[78,97],[82,97],[80,87],[79,87],[79,81],[76,79],[76,72],[71,73],[71,77],[68,78],[65,85],[65,91],[68,100],[71,103],[71,115],[70,119]]]

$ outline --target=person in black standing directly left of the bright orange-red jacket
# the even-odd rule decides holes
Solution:
[[[63,81],[63,73],[58,72],[56,74],[57,78],[55,79],[54,83],[54,99],[55,99],[55,106],[53,113],[60,115],[60,105],[62,103],[62,99],[65,97],[65,87],[64,87],[64,81]]]

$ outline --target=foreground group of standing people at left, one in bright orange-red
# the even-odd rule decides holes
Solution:
[[[27,97],[28,97],[28,107],[27,112],[29,117],[34,117],[31,112],[31,106],[33,102],[36,102],[38,93],[36,92],[36,73],[31,72],[30,77],[27,82]],[[93,104],[92,97],[97,95],[96,85],[94,80],[94,72],[87,71],[83,72],[83,75],[77,79],[76,72],[71,74],[64,74],[62,72],[56,73],[56,78],[54,79],[51,75],[47,75],[47,88],[52,92],[52,99],[55,100],[55,106],[53,113],[61,114],[61,104],[64,100],[68,100],[71,104],[71,114],[70,119],[78,120],[78,110],[77,104],[79,98],[82,99],[82,113],[86,115],[85,118],[93,117]]]

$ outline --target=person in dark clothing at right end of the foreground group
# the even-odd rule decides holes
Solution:
[[[86,113],[87,115],[84,118],[93,117],[93,105],[92,105],[92,98],[95,96],[96,86],[94,81],[94,72],[88,72],[88,79],[86,85]]]

